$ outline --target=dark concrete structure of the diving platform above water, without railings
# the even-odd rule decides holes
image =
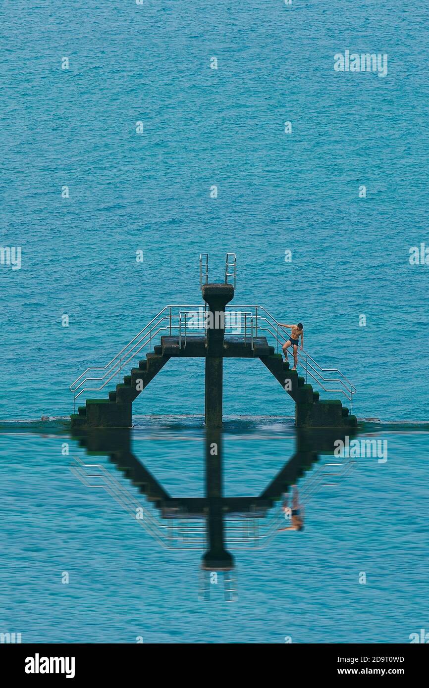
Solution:
[[[156,332],[164,329],[169,332],[169,335],[165,334],[160,337],[160,343],[154,346],[153,352],[151,352],[151,346],[154,339],[150,336],[146,342],[149,345],[149,352],[146,353],[145,358],[142,357],[138,361],[138,367],[133,367],[130,374],[125,374],[123,382],[116,384],[116,389],[109,390],[107,399],[86,399],[85,406],[79,406],[78,413],[72,414],[72,427],[132,427],[132,403],[140,392],[147,388],[147,385],[163,369],[170,358],[200,357],[205,359],[205,422],[209,429],[222,427],[224,358],[259,358],[278,383],[280,383],[283,391],[295,402],[295,424],[297,427],[355,428],[357,426],[357,419],[349,414],[347,407],[343,407],[341,400],[320,400],[319,391],[314,390],[312,385],[307,384],[306,378],[300,375],[297,370],[291,369],[289,361],[284,361],[282,354],[275,353],[275,347],[269,345],[265,336],[251,336],[253,327],[249,333],[247,329],[244,329],[242,334],[225,333],[225,308],[227,303],[233,298],[233,294],[233,286],[227,282],[202,285],[202,298],[207,305],[205,312],[213,315],[213,322],[218,322],[218,326],[209,327],[206,325],[202,332],[196,334],[185,332],[186,319],[183,325],[180,320],[179,334],[171,334],[171,307],[168,307],[170,309],[169,314],[165,316],[165,319],[157,321],[156,325],[152,325],[151,329],[159,327]],[[182,314],[180,313],[181,317]],[[165,323],[165,321],[167,321],[168,325],[162,327],[161,322]],[[198,329],[197,325],[194,330]],[[257,332],[258,329],[255,327],[254,334]],[[143,346],[140,345],[141,340],[137,340],[134,343],[140,334],[129,343],[131,347],[127,354],[122,357],[126,358],[126,365],[143,349]],[[130,352],[132,355],[130,355]],[[112,359],[112,361],[114,360]],[[117,363],[119,363],[118,372],[121,376],[121,357],[118,358],[116,356],[116,367]],[[312,367],[311,363],[309,366],[310,368]],[[106,367],[101,370],[105,369]],[[113,369],[115,369],[115,365]],[[313,370],[316,376],[312,375],[311,377],[317,382],[317,371],[315,368]],[[334,373],[339,372],[334,371]],[[81,378],[78,378],[76,383]],[[103,389],[107,382],[114,378],[115,374],[110,369],[101,378],[105,382],[100,389]],[[86,379],[94,380],[92,377]],[[322,386],[324,379],[322,374],[320,374]],[[337,385],[340,381],[333,380],[333,382]],[[81,387],[81,384],[78,386],[78,389],[79,387]],[[83,389],[79,391],[77,396],[80,396]],[[89,389],[94,389],[94,387],[91,386]],[[341,391],[341,389],[335,388],[331,391]]]

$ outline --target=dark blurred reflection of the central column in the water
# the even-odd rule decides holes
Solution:
[[[234,566],[232,555],[224,548],[222,510],[222,436],[219,430],[206,433],[207,540],[209,550],[202,557],[207,571],[228,571]]]

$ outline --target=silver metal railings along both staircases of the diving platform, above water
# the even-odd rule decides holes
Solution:
[[[216,317],[220,314],[213,314],[206,310],[200,303],[193,304],[169,304],[160,310],[151,319],[143,330],[140,330],[131,341],[121,349],[116,356],[111,358],[109,363],[103,367],[89,367],[74,380],[70,385],[70,391],[74,393],[74,407],[76,399],[84,391],[100,391],[114,378],[119,376],[125,366],[133,361],[140,352],[145,350],[151,352],[152,341],[158,335],[169,334],[178,335],[180,348],[186,347],[187,340],[192,334],[205,333],[207,327],[219,326]],[[213,318],[213,322],[209,319]],[[224,331],[226,336],[243,336],[244,345],[250,345],[251,350],[255,349],[255,339],[258,336],[265,336],[268,343],[274,343],[277,352],[282,348],[284,341],[290,337],[278,321],[261,305],[227,305],[224,314]],[[323,368],[305,350],[298,349],[297,363],[305,371],[305,378],[310,377],[326,392],[338,392],[343,394],[350,401],[350,411],[352,408],[353,394],[356,388],[353,383],[346,378],[337,368]],[[335,376],[331,376],[335,374]],[[98,383],[98,386],[88,386],[86,383]],[[332,387],[336,383],[335,387]]]

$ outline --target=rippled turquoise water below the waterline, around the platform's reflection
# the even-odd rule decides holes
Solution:
[[[278,420],[227,423],[226,495],[260,494],[289,461],[294,431]],[[427,435],[378,437],[388,442],[385,463],[359,460],[332,477],[332,455],[318,456],[298,482],[304,531],[232,550],[238,599],[229,603],[222,574],[210,599],[198,599],[202,550],[163,548],[105,490],[70,471],[76,457],[104,466],[154,513],[106,458],[87,457],[52,431],[36,442],[23,430],[3,431],[1,624],[23,642],[408,643],[428,623]],[[192,418],[152,419],[132,440],[138,460],[175,497],[204,494],[203,444]],[[321,468],[325,484],[306,499]],[[280,503],[275,514],[281,521]]]

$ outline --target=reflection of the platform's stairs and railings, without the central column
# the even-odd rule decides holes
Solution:
[[[350,431],[350,434],[353,436],[353,431]],[[324,473],[323,466],[317,469],[318,473],[313,473],[312,469],[319,461],[318,453],[332,453],[333,443],[339,437],[344,439],[344,432],[298,432],[295,453],[284,463],[262,493],[251,497],[220,497],[222,504],[219,516],[230,550],[262,548],[269,544],[284,524],[284,512],[276,506],[276,502],[289,493],[292,485],[298,483],[301,485],[300,502],[305,504],[308,501],[308,497],[326,480],[324,476],[329,475]],[[207,489],[205,497],[169,495],[156,477],[132,453],[129,430],[90,430],[88,433],[76,433],[75,438],[85,447],[87,454],[107,455],[140,494],[145,495],[149,505],[144,506],[139,502],[133,493],[123,486],[122,481],[116,480],[102,464],[85,464],[76,458],[76,464],[72,464],[71,468],[84,484],[92,488],[104,488],[133,518],[136,518],[138,510],[140,526],[143,526],[163,547],[173,550],[205,549],[207,523],[213,507]],[[210,465],[213,459],[210,454],[212,439],[213,436],[206,438],[206,478],[213,469]],[[218,444],[218,447],[222,453],[221,444]],[[216,470],[220,471],[221,464],[217,460],[215,465]],[[335,471],[338,470],[343,473],[341,467],[335,468]],[[311,473],[304,482],[303,492],[301,481],[308,471]],[[217,498],[215,502],[218,502]]]

